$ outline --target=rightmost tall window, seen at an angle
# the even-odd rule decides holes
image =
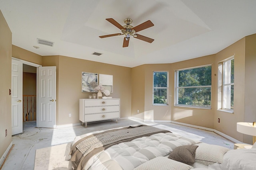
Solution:
[[[234,108],[234,58],[224,61],[222,66],[222,109]]]

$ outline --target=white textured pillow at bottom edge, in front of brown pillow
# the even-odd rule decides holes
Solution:
[[[190,170],[192,168],[192,166],[182,162],[158,156],[137,166],[134,170]]]

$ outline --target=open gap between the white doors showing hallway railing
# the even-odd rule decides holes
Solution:
[[[34,66],[23,64],[22,118],[24,127],[36,127],[36,70]]]

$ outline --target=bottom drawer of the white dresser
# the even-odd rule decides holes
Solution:
[[[84,115],[84,121],[99,121],[105,119],[114,119],[119,118],[119,112],[112,112],[112,113],[98,113],[98,114],[88,114]]]

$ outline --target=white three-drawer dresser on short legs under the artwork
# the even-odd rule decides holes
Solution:
[[[120,118],[120,99],[79,99],[79,120],[85,123]]]

